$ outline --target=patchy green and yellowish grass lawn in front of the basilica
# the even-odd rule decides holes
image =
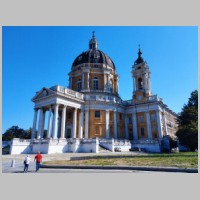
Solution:
[[[197,152],[180,152],[170,154],[147,154],[147,155],[112,155],[92,156],[81,160],[56,160],[43,164],[48,165],[115,165],[115,166],[162,166],[178,168],[198,168]]]

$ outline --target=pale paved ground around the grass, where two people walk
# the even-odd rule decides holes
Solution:
[[[64,153],[64,154],[43,154],[43,161],[51,161],[51,160],[70,160],[78,159],[81,157],[90,157],[90,156],[123,156],[123,155],[136,155],[136,154],[145,154],[143,152],[106,152],[106,153]],[[31,158],[31,163],[29,165],[29,172],[30,173],[36,173],[35,172],[35,162],[34,157],[35,154],[29,155]],[[23,160],[26,157],[26,155],[20,154],[20,155],[2,155],[2,172],[3,173],[23,173],[24,164]],[[162,167],[125,167],[126,169],[123,169],[124,167],[120,166],[111,166],[110,169],[108,169],[108,166],[44,166],[45,168],[41,168],[39,173],[119,173],[119,172],[138,172],[138,171],[151,171],[151,172],[189,172],[189,173],[198,173],[197,169],[174,169],[174,168],[162,168]],[[56,169],[55,169],[56,168]],[[38,173],[38,172],[37,172]]]

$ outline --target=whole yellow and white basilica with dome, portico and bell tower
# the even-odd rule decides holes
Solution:
[[[130,70],[132,98],[122,100],[116,66],[93,32],[88,50],[72,63],[68,87],[43,87],[32,98],[32,138],[14,139],[11,153],[98,153],[116,147],[160,152],[163,136],[175,135],[176,114],[152,94],[150,68],[140,48]]]

